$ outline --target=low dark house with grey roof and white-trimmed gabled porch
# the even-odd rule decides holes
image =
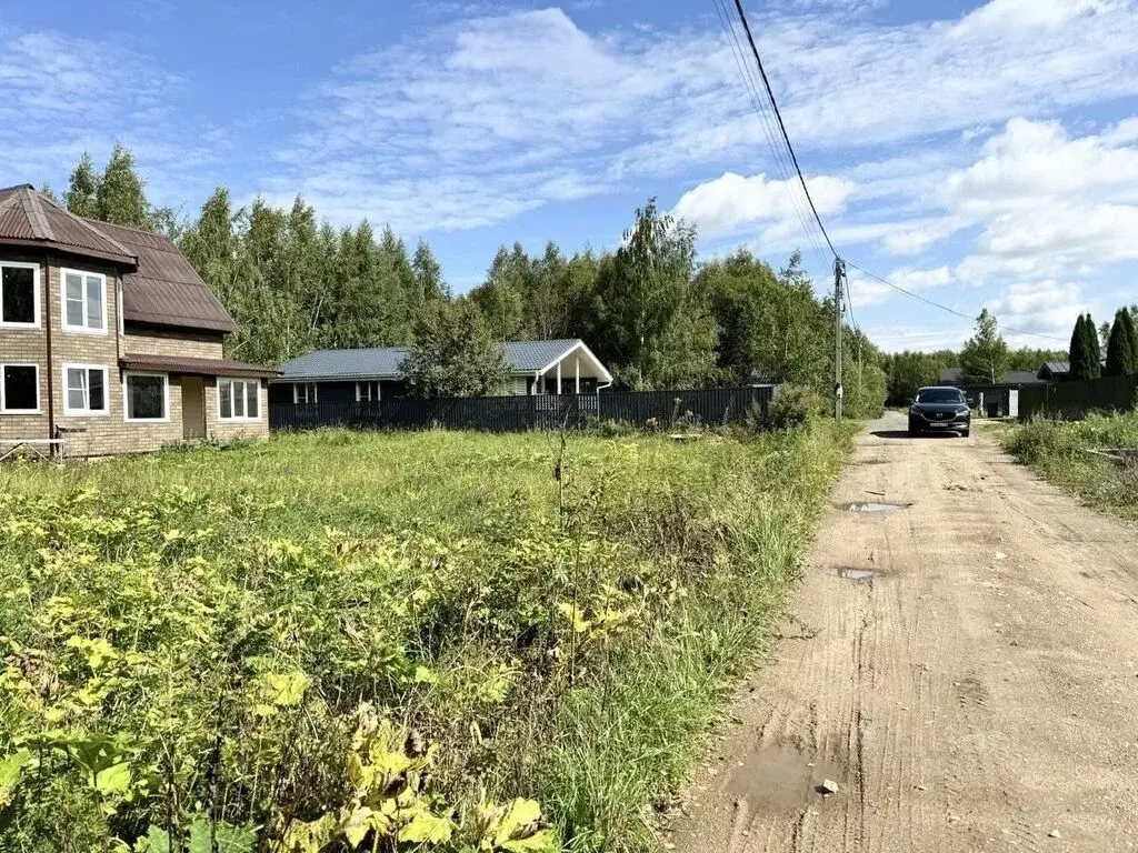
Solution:
[[[595,394],[612,375],[578,338],[510,341],[503,345],[510,380],[503,396]],[[270,386],[273,404],[373,403],[404,397],[399,366],[404,347],[318,349],[284,364]]]

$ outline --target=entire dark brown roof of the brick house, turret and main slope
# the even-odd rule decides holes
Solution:
[[[167,238],[76,216],[31,184],[0,189],[0,242],[41,246],[123,267],[129,323],[237,330],[233,318]]]

